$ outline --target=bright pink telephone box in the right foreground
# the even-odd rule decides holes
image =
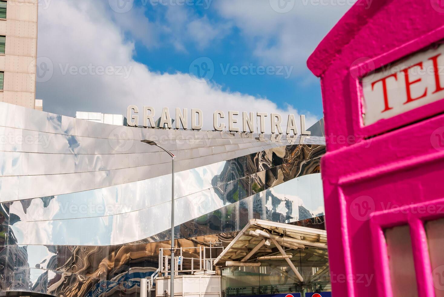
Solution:
[[[359,0],[308,67],[333,296],[444,296],[444,1]]]

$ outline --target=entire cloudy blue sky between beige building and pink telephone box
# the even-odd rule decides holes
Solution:
[[[39,8],[37,64],[52,71],[38,76],[37,98],[69,116],[135,104],[306,114],[311,124],[322,101],[305,62],[353,2],[51,1]]]

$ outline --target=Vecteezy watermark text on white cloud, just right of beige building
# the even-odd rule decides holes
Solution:
[[[115,65],[93,65],[92,63],[88,65],[70,65],[69,63],[59,64],[60,73],[62,75],[117,75],[123,76],[127,79],[132,70],[132,66],[115,66]]]

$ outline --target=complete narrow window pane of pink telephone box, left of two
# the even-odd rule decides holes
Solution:
[[[393,297],[416,297],[415,264],[408,225],[385,230]]]

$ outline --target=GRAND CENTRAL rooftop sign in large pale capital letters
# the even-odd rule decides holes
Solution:
[[[171,120],[169,108],[164,107],[162,109],[162,113],[160,116],[160,121],[156,125],[155,124],[155,109],[152,106],[143,106],[141,116],[143,119],[143,127],[152,127],[152,128],[173,128],[173,120]],[[187,108],[176,108],[175,111],[175,127],[176,129],[192,129],[192,130],[200,130],[203,127],[203,112],[200,109],[192,108],[191,109],[191,127],[189,126],[188,121],[188,110]],[[242,115],[239,114],[238,111],[229,111],[228,112],[228,120],[227,125],[225,124],[225,113],[221,110],[216,110],[213,113],[213,127],[215,131],[223,131],[225,128],[228,128],[230,132],[255,132],[254,123],[258,120],[258,132],[265,133],[266,127],[266,118],[269,117],[269,123],[271,127],[271,133],[282,134],[284,131],[282,130],[282,116],[278,113],[270,113],[270,116],[267,112],[256,112],[256,116],[254,112],[242,112]],[[309,131],[305,130],[305,116],[300,116],[301,120],[301,134],[302,135],[310,135]],[[239,129],[238,125],[240,125],[240,121],[242,121],[242,130]],[[239,124],[238,124],[239,122]],[[135,105],[130,105],[127,108],[127,123],[128,126],[135,127],[139,126],[139,108]],[[293,114],[289,114],[287,118],[287,128],[285,130],[286,134],[298,134],[296,120]]]

